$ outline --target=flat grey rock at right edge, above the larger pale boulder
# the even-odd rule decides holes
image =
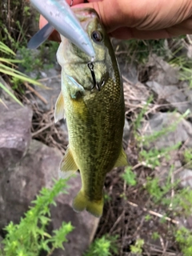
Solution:
[[[181,114],[186,110],[192,111],[192,101],[190,100],[189,86],[187,88],[179,89],[178,86],[164,86],[158,82],[149,81],[146,85],[158,94],[158,100],[164,99],[170,102],[171,106],[178,109]]]

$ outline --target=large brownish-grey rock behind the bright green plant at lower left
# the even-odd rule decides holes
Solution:
[[[58,178],[61,159],[59,150],[32,140],[22,161],[3,172],[0,179],[0,230],[10,221],[19,222],[39,190],[43,186],[52,186],[53,178]],[[82,255],[98,226],[98,218],[86,211],[78,214],[72,209],[72,200],[81,188],[80,176],[70,178],[69,184],[69,194],[59,195],[56,200],[57,207],[51,207],[50,232],[59,228],[63,221],[71,222],[75,227],[68,236],[69,242],[64,245],[66,250],[58,250],[54,254],[57,256]]]

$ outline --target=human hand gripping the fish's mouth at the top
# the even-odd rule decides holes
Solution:
[[[70,0],[66,2],[70,3]],[[114,38],[157,39],[192,34],[191,0],[74,0],[75,7],[94,8]],[[46,24],[40,18],[40,28]],[[54,32],[52,39],[58,38]]]

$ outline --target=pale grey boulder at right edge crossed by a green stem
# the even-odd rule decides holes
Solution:
[[[181,118],[181,121],[178,120]],[[192,146],[192,125],[182,118],[178,113],[157,113],[152,115],[149,121],[146,121],[142,125],[141,133],[144,136],[162,131],[163,129],[169,129],[170,126],[174,126],[178,122],[178,125],[173,127],[171,131],[158,136],[157,140],[150,142],[146,148],[155,147],[156,149],[165,149],[166,147],[174,146],[177,143],[185,142],[186,146]]]

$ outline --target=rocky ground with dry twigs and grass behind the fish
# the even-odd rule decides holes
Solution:
[[[191,215],[187,218],[174,217],[174,210],[171,209],[167,213],[164,206],[152,202],[144,185],[147,177],[158,177],[164,184],[172,168],[173,181],[180,178],[182,187],[192,187],[192,167],[186,166],[182,157],[184,150],[192,148],[192,116],[182,117],[186,111],[192,111],[192,89],[187,82],[179,79],[178,68],[173,68],[155,54],[150,55],[144,78],[143,70],[139,70],[134,63],[130,64],[125,53],[121,54],[120,50],[116,53],[126,103],[123,146],[138,184],[128,186],[122,179],[122,168],[107,174],[106,204],[104,214],[98,220],[86,212],[76,214],[72,210],[71,200],[77,194],[81,181],[78,175],[71,178],[69,194],[59,196],[57,208],[52,209],[50,231],[58,228],[62,221],[72,222],[75,229],[68,236],[65,252],[55,252],[54,255],[80,256],[90,241],[102,234],[118,234],[118,255],[132,255],[130,246],[138,238],[145,241],[142,255],[182,255],[173,232],[175,226],[184,225],[192,229]],[[50,187],[52,179],[58,178],[55,170],[68,144],[66,123],[54,124],[54,103],[61,87],[58,66],[41,70],[40,81],[50,90],[29,85],[25,96],[22,96],[24,107],[0,91],[5,103],[5,106],[0,105],[0,230],[10,221],[18,222],[42,186]],[[153,95],[153,100],[146,105],[150,95]],[[142,142],[138,145],[133,124],[145,108],[137,134],[144,138],[165,129],[168,132],[147,145]],[[175,123],[174,129],[169,130]],[[174,148],[178,143],[180,146]],[[173,147],[168,153],[170,158],[160,156],[160,165],[154,168],[151,163],[139,158],[139,151],[143,149],[150,151],[169,147]],[[165,214],[169,216],[162,223]],[[146,215],[150,215],[149,220],[146,220]],[[154,232],[159,234],[158,239],[151,238]],[[3,237],[2,231],[0,234]]]

